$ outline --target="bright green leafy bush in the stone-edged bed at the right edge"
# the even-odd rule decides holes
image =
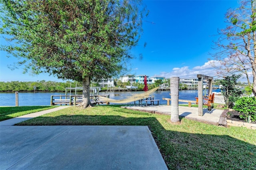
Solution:
[[[251,121],[256,122],[256,98],[242,97],[235,102],[234,110],[240,112],[240,118],[247,121],[247,117],[251,116]]]

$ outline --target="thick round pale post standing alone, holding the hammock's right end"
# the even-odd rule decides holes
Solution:
[[[170,90],[171,90],[171,99],[172,99],[172,107],[171,107],[171,122],[172,123],[180,123],[179,119],[179,77],[171,77],[170,79]]]

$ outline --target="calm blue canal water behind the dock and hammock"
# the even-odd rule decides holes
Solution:
[[[142,91],[132,91],[132,92],[108,92],[111,99],[124,99],[131,95],[143,93]],[[70,93],[68,93],[69,95]],[[75,93],[71,93],[74,95]],[[78,95],[82,93],[78,92]],[[100,92],[100,95],[106,95],[106,92]],[[65,93],[55,92],[55,93],[45,93],[45,92],[19,92],[19,106],[47,106],[50,105],[51,95],[65,95]],[[179,91],[179,99],[183,100],[195,100],[197,97],[197,90],[183,90]],[[166,100],[162,98],[170,98],[170,91],[155,91],[151,94],[154,99],[160,99],[159,104],[166,104]],[[133,102],[132,102],[133,103]],[[113,103],[110,103],[113,104]],[[0,93],[0,106],[15,106],[15,92],[13,93]]]

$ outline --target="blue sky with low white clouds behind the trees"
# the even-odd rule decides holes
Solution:
[[[225,13],[238,7],[236,0],[144,0],[150,11],[143,22],[143,33],[134,55],[143,59],[130,60],[127,74],[162,76],[166,78],[196,78],[197,74],[214,76],[208,59],[214,60],[212,45],[218,39],[218,29],[225,28]],[[6,42],[1,38],[1,44]],[[146,42],[146,47],[144,43]],[[23,74],[11,71],[16,58],[0,51],[0,81],[62,81],[48,74]]]

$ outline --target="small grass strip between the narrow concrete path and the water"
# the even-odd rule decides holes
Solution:
[[[0,107],[0,121],[12,119],[27,115],[30,113],[40,112],[48,109],[52,109],[58,106],[19,106],[19,107]]]

